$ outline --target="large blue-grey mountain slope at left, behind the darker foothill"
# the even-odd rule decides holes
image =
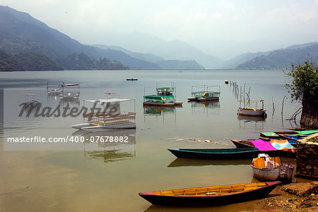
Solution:
[[[71,37],[49,28],[28,13],[0,6],[0,49],[9,54],[38,52],[57,61],[71,54],[86,54],[91,59],[107,57],[130,69],[160,69],[157,64],[136,59],[113,49],[82,45]]]

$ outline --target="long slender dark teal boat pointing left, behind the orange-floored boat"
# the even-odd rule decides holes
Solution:
[[[257,148],[168,148],[177,158],[196,159],[244,159],[254,158],[259,153],[269,153],[273,151],[259,151]]]

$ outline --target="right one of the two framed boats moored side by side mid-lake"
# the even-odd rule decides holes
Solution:
[[[218,87],[218,91],[211,91],[211,89],[213,89],[212,87]],[[194,91],[197,88],[201,90]],[[218,101],[220,98],[220,86],[192,86],[191,95],[188,101]]]

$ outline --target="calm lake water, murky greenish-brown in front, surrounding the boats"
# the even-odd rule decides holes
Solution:
[[[126,78],[139,80],[126,81]],[[233,87],[224,83],[225,79],[245,85],[245,93],[250,88],[254,100],[263,98],[267,118],[238,118],[239,102]],[[55,144],[43,147],[47,151],[26,151],[28,146],[22,146],[24,151],[17,151],[18,148],[8,151],[9,136],[92,136],[71,128],[83,122],[83,117],[18,117],[19,104],[25,101],[26,93],[36,94],[44,105],[59,105],[59,98],[47,97],[47,81],[80,83],[80,102],[76,107],[83,106],[86,98],[105,98],[106,92],[135,98],[136,130],[106,134],[129,136],[129,143],[97,146],[86,142],[66,147]],[[151,206],[138,193],[257,182],[251,160],[176,159],[167,148],[234,148],[230,139],[257,139],[261,131],[299,127],[298,120],[285,120],[299,106],[290,102],[285,90],[287,81],[283,71],[0,72],[0,85],[4,88],[0,211],[197,211],[198,208]],[[171,83],[183,107],[143,108],[146,86]],[[192,86],[197,85],[219,85],[220,101],[187,102]],[[151,91],[146,89],[148,93]],[[288,98],[282,114],[284,96]],[[205,142],[209,140],[212,142]],[[242,203],[200,210],[251,211],[253,208],[253,204]]]

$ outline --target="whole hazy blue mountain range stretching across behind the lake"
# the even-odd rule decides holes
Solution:
[[[124,46],[129,45],[129,42],[136,42],[143,47],[142,52],[129,51],[118,45],[83,45],[58,30],[49,28],[28,13],[0,6],[1,51],[13,55],[37,52],[57,62],[64,69],[98,68],[100,66],[97,64],[101,64],[98,60],[103,58],[105,59],[101,60],[102,64],[107,62],[113,68],[121,67],[120,69],[126,69],[127,66],[129,69],[283,69],[290,67],[292,63],[302,63],[310,58],[313,62],[318,61],[317,42],[293,45],[270,52],[240,54],[225,61],[206,54],[187,42],[167,42],[153,35],[138,32],[127,34],[129,35],[132,35],[129,39],[122,37],[123,44],[124,41],[126,44]],[[84,59],[88,64],[95,66],[86,66],[85,63],[78,66],[74,61],[76,59]],[[72,63],[73,66],[69,66]],[[102,67],[108,69],[110,66]]]

